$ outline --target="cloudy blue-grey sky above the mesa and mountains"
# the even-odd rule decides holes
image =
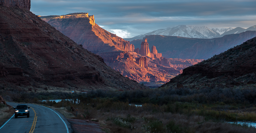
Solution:
[[[175,27],[248,28],[256,25],[256,0],[31,0],[40,16],[88,12],[122,38]]]

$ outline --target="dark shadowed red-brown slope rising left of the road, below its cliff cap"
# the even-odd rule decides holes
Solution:
[[[0,88],[81,91],[143,87],[35,14],[18,7],[0,6],[0,57]]]

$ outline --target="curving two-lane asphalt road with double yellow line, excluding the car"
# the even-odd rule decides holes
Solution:
[[[7,102],[7,104],[13,107],[18,105],[12,102]],[[27,118],[27,116],[18,116],[18,118],[14,118],[13,116],[2,128],[0,127],[1,133],[73,132],[71,124],[56,110],[34,104],[27,105],[30,107],[30,117]]]

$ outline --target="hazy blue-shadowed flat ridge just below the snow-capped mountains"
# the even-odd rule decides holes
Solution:
[[[166,58],[181,59],[208,59],[215,54],[220,54],[240,45],[244,41],[256,36],[256,31],[245,31],[240,34],[230,34],[219,38],[200,39],[178,36],[150,35],[147,38],[149,47],[157,46],[157,51]],[[138,48],[143,40],[133,40],[135,48]]]

